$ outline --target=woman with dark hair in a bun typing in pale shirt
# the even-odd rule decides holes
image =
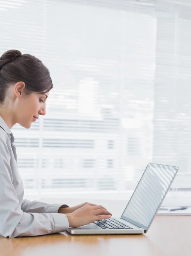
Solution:
[[[32,55],[9,50],[0,57],[0,236],[58,233],[110,218],[104,207],[84,203],[75,207],[23,200],[23,183],[11,128],[30,128],[46,114],[52,89],[49,70]]]

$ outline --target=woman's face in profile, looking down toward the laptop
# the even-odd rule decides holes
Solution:
[[[49,93],[39,94],[32,92],[17,98],[15,105],[16,123],[29,129],[40,115],[46,114],[46,99]],[[35,118],[36,117],[36,118]]]

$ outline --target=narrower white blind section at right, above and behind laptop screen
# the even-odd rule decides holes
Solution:
[[[188,195],[191,190],[191,4],[172,1],[164,5],[159,1],[156,17],[153,161],[179,166],[173,188]]]

